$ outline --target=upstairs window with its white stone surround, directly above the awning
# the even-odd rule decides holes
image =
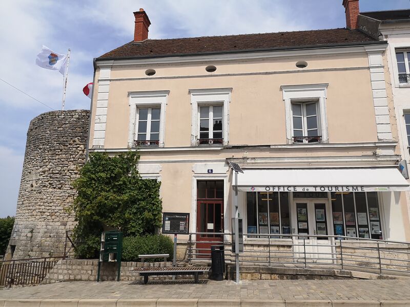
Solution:
[[[282,85],[286,142],[329,143],[326,89],[329,84]]]

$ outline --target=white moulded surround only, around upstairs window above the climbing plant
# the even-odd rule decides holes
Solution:
[[[166,118],[166,105],[170,91],[129,92],[130,120],[128,129],[128,147],[135,148],[134,141],[138,136],[139,109],[160,108],[159,115],[159,141],[158,146],[164,147],[164,130]],[[148,117],[147,117],[148,120]],[[147,121],[148,132],[148,121]]]

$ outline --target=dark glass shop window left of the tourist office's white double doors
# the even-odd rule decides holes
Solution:
[[[248,192],[247,221],[248,234],[290,234],[288,193]]]

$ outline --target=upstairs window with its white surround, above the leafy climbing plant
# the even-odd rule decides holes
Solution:
[[[130,92],[128,147],[163,147],[169,91]]]

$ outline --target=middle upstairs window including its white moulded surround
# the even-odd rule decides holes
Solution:
[[[191,145],[229,143],[229,103],[232,89],[190,90],[192,104]]]

